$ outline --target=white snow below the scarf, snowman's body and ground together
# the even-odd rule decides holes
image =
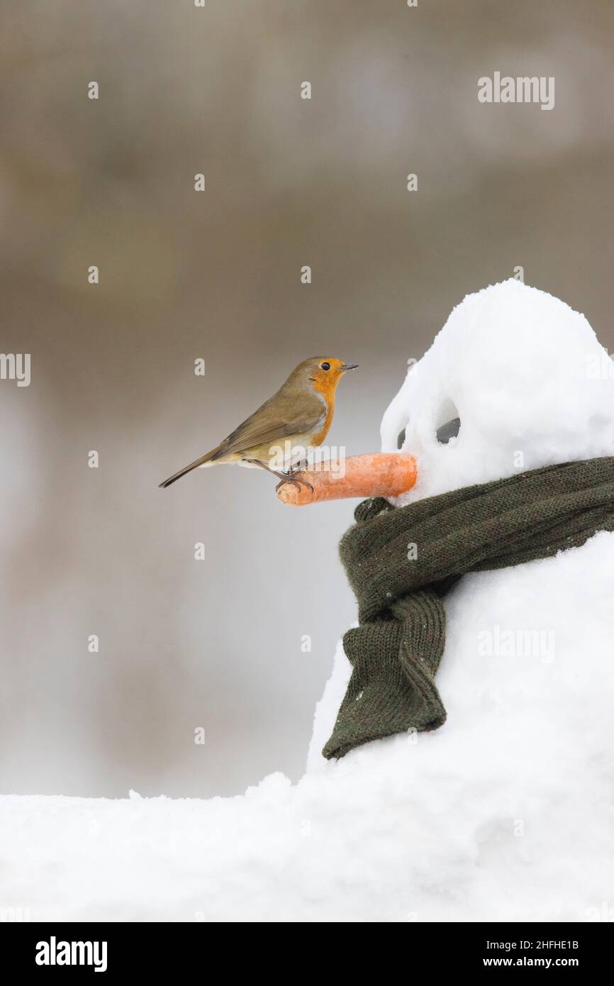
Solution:
[[[2,798],[0,904],[32,920],[591,920],[614,885],[613,559],[601,533],[515,569],[512,593],[505,572],[468,578],[448,606],[437,733],[325,762],[329,694],[294,787]],[[485,613],[553,629],[554,650],[479,657]]]

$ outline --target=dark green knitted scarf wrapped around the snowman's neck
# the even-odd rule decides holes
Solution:
[[[443,597],[466,572],[520,565],[614,529],[614,458],[531,469],[392,507],[365,500],[339,546],[358,599],[343,638],[352,676],[325,757],[410,729],[436,730]]]

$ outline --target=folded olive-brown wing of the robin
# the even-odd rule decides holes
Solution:
[[[312,397],[308,402],[297,401],[289,414],[282,415],[276,407],[277,401],[271,397],[224,439],[213,459],[246,452],[267,443],[275,445],[290,435],[315,431],[326,417],[325,406],[319,401],[317,403],[319,407],[314,406]]]

